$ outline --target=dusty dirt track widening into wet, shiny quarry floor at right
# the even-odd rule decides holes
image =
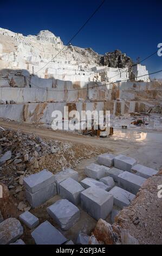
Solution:
[[[162,168],[162,133],[158,131],[122,130],[118,128],[114,130],[113,136],[99,138],[83,136],[73,132],[53,131],[40,125],[16,123],[14,121],[0,121],[0,126],[15,131],[34,133],[42,138],[105,148],[114,154],[132,156],[139,163],[148,167]]]

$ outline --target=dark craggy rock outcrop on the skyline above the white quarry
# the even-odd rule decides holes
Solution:
[[[122,53],[120,50],[115,50],[114,52],[105,53],[100,59],[100,64],[111,68],[129,68],[133,65],[133,61],[130,57],[127,57],[125,53]]]

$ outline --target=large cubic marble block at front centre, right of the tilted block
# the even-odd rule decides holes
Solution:
[[[90,216],[103,220],[113,209],[113,195],[97,187],[89,187],[81,192],[81,207]]]

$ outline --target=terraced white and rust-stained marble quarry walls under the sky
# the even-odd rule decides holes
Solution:
[[[64,46],[49,31],[24,36],[0,28],[0,118],[51,124],[51,113],[64,106],[123,115],[161,105],[161,82],[132,64],[119,50],[102,56]]]

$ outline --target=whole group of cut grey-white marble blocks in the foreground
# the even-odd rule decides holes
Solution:
[[[158,172],[124,155],[102,154],[97,162],[85,168],[87,178],[80,182],[79,174],[70,168],[55,175],[42,170],[24,178],[28,202],[34,208],[59,194],[61,199],[48,206],[47,212],[64,231],[79,221],[78,205],[96,221],[106,219],[116,211],[113,205],[120,209],[128,206],[145,180]],[[24,223],[31,217],[26,215],[21,216]],[[30,228],[37,224],[35,220],[34,224],[30,223]],[[48,221],[38,225],[31,235],[37,244],[62,244],[67,241]]]

